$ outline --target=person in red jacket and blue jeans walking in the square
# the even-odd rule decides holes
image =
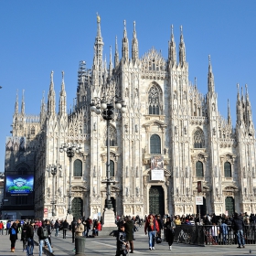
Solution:
[[[148,233],[149,250],[155,250],[155,234],[159,232],[158,222],[154,215],[148,215],[144,223],[144,234]]]

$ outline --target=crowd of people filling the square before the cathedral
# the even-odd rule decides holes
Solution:
[[[44,220],[31,220],[31,221],[7,221],[6,227],[3,221],[0,221],[0,233],[10,236],[11,251],[15,251],[17,234],[20,233],[23,242],[23,251],[27,252],[27,256],[33,255],[34,250],[34,234],[37,234],[39,245],[39,256],[42,255],[43,247],[48,247],[48,251],[52,252],[51,235],[54,233],[56,237],[61,235],[66,239],[67,230],[72,233],[72,242],[75,242],[75,237],[97,237],[101,231],[102,219],[80,218],[69,222],[67,219],[44,219]],[[120,217],[116,219],[118,230],[116,236],[116,256],[126,255],[128,251],[134,251],[134,232],[144,225],[144,233],[148,235],[149,250],[155,250],[155,242],[159,243],[165,240],[168,243],[169,250],[172,250],[172,245],[175,238],[175,229],[178,225],[204,225],[209,227],[213,240],[218,244],[219,232],[221,231],[223,237],[223,244],[226,244],[226,235],[228,234],[229,227],[232,228],[237,237],[238,248],[245,247],[245,240],[243,230],[245,225],[256,223],[256,216],[254,214],[248,215],[245,213],[235,213],[232,216],[215,215],[214,213],[205,215],[200,218],[198,214],[192,215],[176,215],[161,217],[160,215],[145,215],[144,219],[139,216]]]

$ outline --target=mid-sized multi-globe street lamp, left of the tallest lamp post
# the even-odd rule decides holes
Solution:
[[[63,144],[59,148],[59,152],[66,152],[67,156],[69,157],[69,208],[68,208],[68,214],[72,213],[71,209],[71,175],[73,170],[73,163],[72,158],[74,157],[75,153],[80,154],[81,152],[81,146],[80,144]]]

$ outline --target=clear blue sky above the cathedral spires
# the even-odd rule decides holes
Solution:
[[[69,107],[76,97],[79,61],[85,60],[91,68],[97,12],[101,16],[103,53],[108,62],[115,36],[121,56],[124,19],[130,43],[133,21],[136,22],[140,57],[155,47],[167,59],[170,27],[174,25],[178,47],[182,25],[189,80],[197,77],[199,91],[207,93],[210,55],[219,112],[227,117],[229,99],[235,124],[236,84],[244,87],[247,83],[255,116],[255,9],[256,1],[250,0],[0,1],[0,172],[5,168],[5,137],[11,131],[16,90],[19,103],[25,90],[26,113],[38,114],[43,91],[46,99],[48,96],[51,70],[58,105],[64,70]]]

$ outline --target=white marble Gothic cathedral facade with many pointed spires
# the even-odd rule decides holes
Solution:
[[[129,48],[132,48],[131,55]],[[255,134],[246,86],[239,89],[236,126],[219,114],[214,75],[208,61],[208,93],[188,80],[186,47],[181,27],[179,45],[172,29],[168,57],[151,48],[139,57],[135,23],[129,44],[124,22],[122,56],[118,44],[109,64],[103,60],[101,20],[91,69],[80,61],[77,99],[67,112],[64,72],[59,111],[53,72],[48,102],[29,122],[22,110],[14,114],[10,140],[26,138],[25,150],[7,147],[5,174],[19,166],[34,172],[36,218],[72,215],[96,218],[106,199],[107,133],[101,114],[90,111],[91,100],[121,97],[126,112],[115,110],[110,127],[111,198],[116,215],[256,212]],[[63,144],[80,144],[70,159]],[[30,158],[29,158],[30,157]],[[29,161],[28,161],[29,160]],[[56,176],[48,166],[57,165]],[[69,179],[70,175],[70,179]]]

